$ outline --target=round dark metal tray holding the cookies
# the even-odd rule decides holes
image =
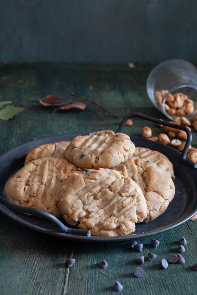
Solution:
[[[3,195],[3,189],[6,181],[24,165],[25,155],[29,150],[38,145],[72,140],[78,133],[56,135],[42,138],[20,145],[0,156],[0,193]],[[120,237],[83,237],[59,232],[53,223],[34,216],[17,213],[9,210],[0,204],[0,212],[10,219],[18,222],[33,230],[43,232],[56,237],[62,237],[69,240],[78,240],[84,242],[121,242],[129,239],[137,239],[149,235],[154,235],[165,230],[176,227],[190,219],[197,213],[197,170],[193,167],[184,165],[181,160],[181,153],[170,146],[159,142],[153,142],[141,137],[131,136],[131,140],[136,146],[157,150],[166,155],[174,165],[175,170],[175,197],[168,206],[164,214],[152,222],[136,224],[136,231],[131,235]],[[63,222],[63,220],[62,220]]]

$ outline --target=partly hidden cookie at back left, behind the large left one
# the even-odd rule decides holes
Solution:
[[[64,152],[69,144],[70,141],[60,141],[39,145],[27,153],[25,165],[30,163],[32,160],[44,157],[64,158]]]

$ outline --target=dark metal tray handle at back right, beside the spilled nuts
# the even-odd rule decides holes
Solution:
[[[128,119],[130,119],[130,118],[133,118],[133,117],[138,117],[138,118],[144,119],[146,121],[150,121],[150,122],[157,123],[157,124],[162,124],[162,125],[165,125],[165,126],[168,126],[168,127],[172,127],[172,128],[175,128],[175,129],[185,131],[187,133],[187,140],[186,140],[183,152],[182,152],[182,160],[183,160],[183,163],[185,163],[186,165],[197,168],[197,163],[194,163],[192,160],[187,158],[189,145],[190,145],[191,140],[192,140],[191,131],[187,127],[177,125],[177,124],[174,124],[174,123],[169,123],[169,122],[166,122],[166,121],[161,121],[159,119],[156,119],[156,118],[153,118],[153,117],[141,114],[141,113],[131,113],[131,114],[128,114],[126,117],[123,118],[121,124],[118,127],[118,130],[116,131],[116,133],[121,132],[123,127],[125,126],[126,121]]]

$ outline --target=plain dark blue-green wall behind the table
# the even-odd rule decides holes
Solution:
[[[0,60],[197,61],[196,0],[0,0]]]

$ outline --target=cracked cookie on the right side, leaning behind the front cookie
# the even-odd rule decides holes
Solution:
[[[113,169],[131,177],[141,187],[148,207],[144,222],[152,221],[164,213],[174,198],[172,178],[155,163],[140,158],[128,159]]]

